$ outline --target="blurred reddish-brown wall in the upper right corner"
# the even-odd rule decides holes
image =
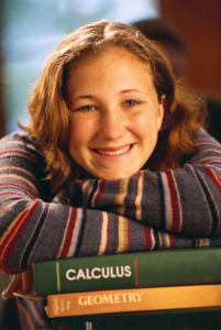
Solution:
[[[159,0],[159,11],[187,44],[190,85],[221,99],[221,1]]]

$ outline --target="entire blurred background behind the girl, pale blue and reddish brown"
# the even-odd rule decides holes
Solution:
[[[137,28],[146,29],[143,32],[162,43],[177,77],[212,105],[219,139],[220,0],[0,0],[0,138],[19,129],[16,120],[27,122],[30,91],[55,46],[75,29],[101,19],[128,24],[151,22]],[[8,280],[0,273],[0,290]],[[1,299],[0,312],[2,306]],[[0,329],[11,330],[13,326]]]

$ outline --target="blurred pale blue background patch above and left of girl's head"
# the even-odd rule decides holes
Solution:
[[[26,122],[29,92],[45,58],[71,31],[107,19],[131,23],[158,15],[152,0],[1,0],[1,111],[4,133]]]

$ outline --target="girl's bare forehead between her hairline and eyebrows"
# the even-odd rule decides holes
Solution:
[[[108,47],[102,52],[82,58],[66,80],[68,90],[99,89],[106,86],[113,91],[131,86],[154,87],[150,67],[136,54],[124,47]],[[135,87],[133,87],[135,88]]]

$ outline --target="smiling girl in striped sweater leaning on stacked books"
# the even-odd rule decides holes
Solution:
[[[29,288],[36,261],[221,245],[221,146],[139,31],[73,32],[29,111],[26,133],[0,142],[0,267],[16,274],[5,297]],[[22,329],[51,329],[42,302],[19,310]]]

